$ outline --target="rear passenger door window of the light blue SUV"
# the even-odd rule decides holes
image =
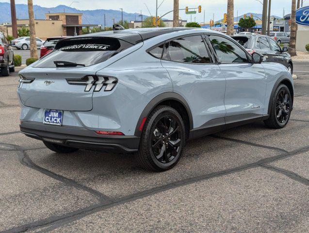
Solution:
[[[211,63],[201,35],[186,36],[170,41],[164,59],[185,63]]]

